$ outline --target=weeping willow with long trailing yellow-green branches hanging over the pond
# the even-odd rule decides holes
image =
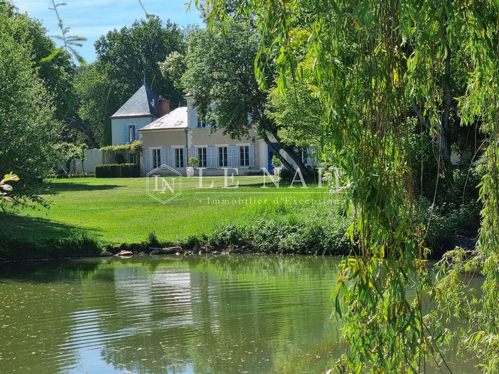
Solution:
[[[498,373],[498,1],[209,0],[205,5],[212,24],[244,17],[260,27],[261,53],[269,59],[257,56],[256,76],[268,81],[264,65],[270,64],[282,92],[303,75],[293,30],[309,33],[306,58],[313,59],[318,87],[321,145],[343,171],[353,218],[347,234],[352,240],[358,236],[333,293],[347,341],[337,370],[420,373],[428,360],[445,370],[441,348],[450,335],[441,321],[458,314],[469,322],[460,330],[462,346],[485,372]],[[489,138],[481,186],[485,207],[477,251],[449,253],[443,276],[434,283],[425,248],[431,216],[423,220],[414,194],[422,181],[412,175],[424,165],[412,165],[410,123],[414,115],[421,134],[424,129],[433,135],[441,172],[449,175],[450,61],[457,51],[466,56],[460,63],[469,72],[460,115],[465,123],[478,122]],[[462,275],[481,265],[486,281],[478,294]],[[429,314],[423,312],[426,294],[437,305]]]

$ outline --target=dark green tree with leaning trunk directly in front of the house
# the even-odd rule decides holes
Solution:
[[[212,128],[220,128],[233,138],[244,137],[254,129],[275,155],[284,150],[308,176],[295,144],[282,141],[279,125],[265,111],[267,93],[258,86],[253,70],[259,40],[255,29],[237,21],[228,22],[223,31],[197,30],[188,41],[182,86],[194,95],[199,113]],[[266,74],[271,82],[271,71]],[[293,169],[287,160],[281,157],[281,161],[286,168]]]

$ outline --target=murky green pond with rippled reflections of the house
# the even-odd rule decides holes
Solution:
[[[331,318],[339,260],[196,255],[4,265],[0,373],[324,373],[345,349]]]

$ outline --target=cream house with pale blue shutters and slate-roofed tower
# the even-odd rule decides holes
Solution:
[[[200,161],[199,167],[206,168],[203,171],[206,176],[223,176],[224,168],[238,168],[239,175],[261,173],[261,168],[273,170],[273,153],[254,132],[250,131],[243,139],[232,139],[222,131],[212,132],[197,115],[194,97],[186,95],[184,98],[187,106],[170,111],[170,101],[157,96],[144,82],[111,116],[113,145],[140,141],[144,150],[141,159],[128,155],[126,161],[140,163],[141,175],[161,165],[168,165],[185,175],[191,157]],[[306,150],[302,151],[302,158],[311,164]],[[171,171],[160,172],[168,174]]]

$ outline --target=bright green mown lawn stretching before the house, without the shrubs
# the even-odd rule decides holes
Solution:
[[[183,178],[182,194],[162,204],[146,194],[145,178],[54,180],[49,184],[50,194],[44,196],[51,202],[49,209],[17,216],[0,214],[0,224],[13,235],[34,240],[87,230],[108,243],[137,243],[152,231],[162,241],[175,241],[208,232],[215,222],[275,209],[277,200],[279,204],[306,204],[310,203],[307,199],[325,196],[318,193],[323,189],[302,189],[299,183],[294,189],[276,189],[268,179],[269,188],[263,189],[262,177],[236,177],[234,183],[240,186],[234,189],[222,188],[221,177],[206,177],[204,185],[211,181],[213,189],[201,190],[198,178]]]

